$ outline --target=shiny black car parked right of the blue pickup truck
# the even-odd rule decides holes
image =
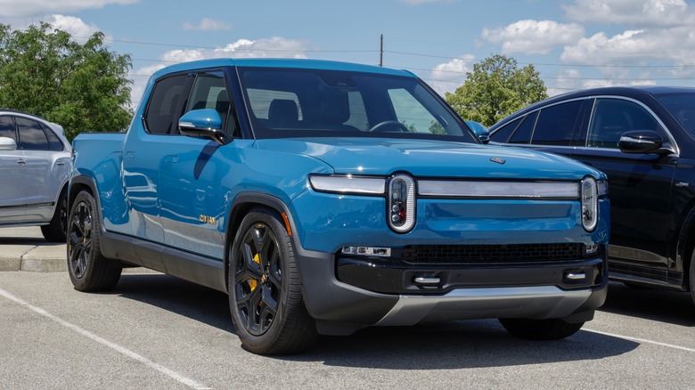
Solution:
[[[609,275],[695,301],[695,88],[608,87],[537,102],[490,142],[576,158],[609,177]]]

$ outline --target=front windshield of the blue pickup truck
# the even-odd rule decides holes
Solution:
[[[385,137],[478,142],[415,77],[239,68],[257,138]]]

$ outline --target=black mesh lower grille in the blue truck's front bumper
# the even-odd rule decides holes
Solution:
[[[409,264],[509,264],[563,262],[584,257],[584,244],[413,245],[402,249]]]

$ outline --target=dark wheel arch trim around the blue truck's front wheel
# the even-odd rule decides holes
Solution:
[[[229,286],[229,253],[231,246],[233,245],[234,238],[236,237],[244,216],[249,214],[249,211],[255,207],[267,207],[281,215],[281,223],[285,225],[285,229],[288,229],[288,233],[295,247],[298,245],[298,239],[296,236],[297,229],[294,218],[290,212],[290,207],[288,207],[287,204],[282,201],[282,199],[264,192],[241,192],[234,199],[232,207],[229,209],[229,215],[227,218],[224,256],[225,286]]]

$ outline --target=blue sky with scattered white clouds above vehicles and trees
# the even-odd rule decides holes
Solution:
[[[0,0],[0,23],[96,30],[130,53],[133,101],[165,65],[211,57],[291,57],[409,69],[453,92],[474,63],[534,64],[552,94],[601,85],[695,86],[695,1]]]

